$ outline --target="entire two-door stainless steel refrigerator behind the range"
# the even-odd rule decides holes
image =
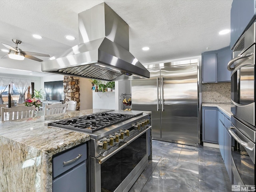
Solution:
[[[132,110],[152,111],[152,138],[199,144],[198,64],[148,68],[132,80]]]

